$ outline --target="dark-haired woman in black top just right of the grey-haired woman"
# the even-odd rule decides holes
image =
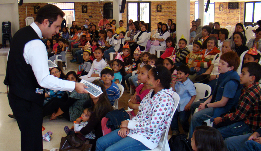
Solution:
[[[244,45],[244,35],[240,31],[234,32],[233,33],[233,40],[234,40],[234,43],[235,43],[235,52],[240,57],[240,55],[244,51],[247,51],[249,49],[249,48],[247,48],[246,45]]]

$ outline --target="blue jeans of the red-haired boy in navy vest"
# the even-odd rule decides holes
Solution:
[[[197,103],[197,102],[195,102]],[[194,104],[194,103],[192,103]],[[209,115],[209,116],[213,116],[213,107],[209,107],[203,110],[200,110],[198,112],[196,112],[195,114],[193,114],[193,116],[191,116],[191,122],[190,122],[190,127],[189,127],[189,139],[192,138],[192,134],[195,130],[195,127],[202,125],[202,123],[209,119],[209,117],[204,116],[204,114]],[[192,110],[191,110],[192,112]]]

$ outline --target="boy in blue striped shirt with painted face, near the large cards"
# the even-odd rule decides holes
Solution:
[[[104,83],[104,87],[106,88],[106,92],[108,98],[110,100],[110,104],[114,105],[116,99],[120,96],[119,87],[112,80],[114,79],[114,72],[112,69],[106,67],[101,71],[101,79]]]

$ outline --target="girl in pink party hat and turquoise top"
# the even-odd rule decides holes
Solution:
[[[126,76],[126,71],[124,69],[124,63],[122,56],[118,53],[113,60],[113,71],[114,71],[114,83],[120,83],[122,81],[122,77]]]

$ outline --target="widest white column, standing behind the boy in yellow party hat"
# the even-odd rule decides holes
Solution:
[[[190,29],[190,0],[177,0],[177,43],[181,37],[189,44]]]

